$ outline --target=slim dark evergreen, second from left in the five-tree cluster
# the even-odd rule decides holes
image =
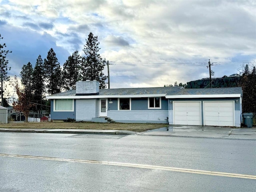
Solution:
[[[36,105],[36,111],[40,113],[42,111],[42,104],[44,104],[45,84],[44,84],[44,61],[41,55],[36,59],[36,65],[33,71],[33,90],[34,90],[34,103]]]

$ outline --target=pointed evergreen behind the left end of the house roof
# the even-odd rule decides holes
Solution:
[[[51,48],[48,51],[47,58],[44,59],[44,70],[45,70],[45,80],[46,88],[48,94],[56,94],[60,92],[61,89],[61,69],[60,63],[56,57],[56,54]]]

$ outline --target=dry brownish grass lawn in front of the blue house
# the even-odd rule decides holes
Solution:
[[[102,129],[102,130],[130,130],[143,132],[146,130],[166,127],[167,124],[142,123],[94,123],[94,122],[40,122],[40,123],[8,123],[0,124],[0,128],[35,128],[35,129]]]

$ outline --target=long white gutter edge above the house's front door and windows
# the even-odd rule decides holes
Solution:
[[[143,95],[73,95],[73,96],[46,96],[46,99],[95,99],[95,98],[142,98],[142,97],[165,97],[166,94],[143,94]]]

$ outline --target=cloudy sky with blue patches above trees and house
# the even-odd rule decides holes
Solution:
[[[111,88],[186,83],[256,62],[255,0],[0,0],[10,75],[53,48],[62,66],[98,36]],[[107,68],[104,70],[107,75]]]

